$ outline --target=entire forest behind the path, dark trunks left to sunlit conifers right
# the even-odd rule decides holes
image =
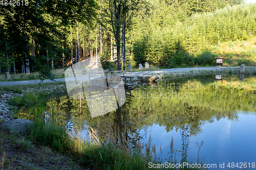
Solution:
[[[242,0],[2,1],[0,9],[0,74],[41,79],[94,57],[112,70],[214,65],[212,47],[256,31],[256,4]]]

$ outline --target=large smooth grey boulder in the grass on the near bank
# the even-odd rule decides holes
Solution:
[[[1,126],[7,128],[11,133],[25,133],[28,132],[28,127],[32,124],[31,120],[18,118],[3,122]]]

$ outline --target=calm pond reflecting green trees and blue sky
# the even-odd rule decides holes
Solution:
[[[200,160],[216,164],[217,169],[223,163],[227,169],[229,162],[230,168],[231,162],[252,165],[256,163],[256,77],[245,76],[240,81],[239,75],[223,75],[221,81],[215,79],[215,75],[205,75],[151,86],[138,84],[129,91],[124,105],[93,118],[86,99],[68,94],[49,100],[48,111],[54,112],[61,125],[84,136],[86,126],[98,130],[98,124],[111,124],[128,139],[151,139],[162,160],[170,156],[173,138],[177,160],[188,144],[191,163]]]

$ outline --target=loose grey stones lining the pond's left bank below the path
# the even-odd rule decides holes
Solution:
[[[9,105],[8,101],[10,98],[14,96],[20,96],[20,98],[23,97],[25,93],[37,93],[39,91],[44,91],[45,94],[57,94],[57,93],[63,93],[66,92],[66,86],[64,84],[62,85],[52,85],[48,86],[47,88],[44,87],[36,87],[36,88],[28,88],[26,90],[22,90],[22,94],[15,93],[13,91],[6,91],[6,90],[0,90],[0,121],[6,121],[13,119],[13,113],[12,106]]]

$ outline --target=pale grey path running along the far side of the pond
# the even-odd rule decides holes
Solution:
[[[168,69],[161,69],[161,70],[154,70],[154,71],[138,71],[138,72],[126,72],[125,76],[131,77],[138,77],[144,74],[166,74],[168,72],[175,72],[175,71],[189,71],[189,70],[204,70],[204,69],[221,69],[221,68],[240,68],[240,67],[190,67],[190,68],[168,68]],[[256,67],[245,67],[245,68],[256,68]],[[77,80],[86,80],[88,76],[83,77],[76,77]],[[74,78],[63,78],[63,79],[55,79],[57,82],[65,82],[65,81],[74,81]],[[51,80],[44,80],[43,83],[53,82]],[[0,82],[0,86],[13,86],[13,85],[26,85],[26,84],[38,84],[40,80],[24,80],[24,81],[2,81]]]

